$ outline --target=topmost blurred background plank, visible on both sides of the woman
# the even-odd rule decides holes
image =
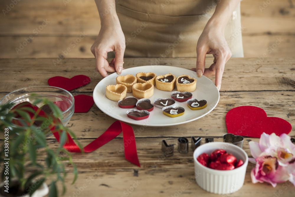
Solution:
[[[294,33],[294,1],[268,1],[271,2],[269,4],[264,2],[266,1],[241,2],[241,19],[246,28],[244,34]],[[0,7],[7,9],[9,4],[10,0],[1,1]],[[260,11],[260,6],[265,9]],[[85,31],[96,36],[100,29],[99,14],[95,2],[91,0],[72,0],[68,4],[60,0],[19,1],[11,11],[0,17],[0,35],[30,35],[42,24],[43,19],[50,23],[39,32],[40,35],[73,36]]]

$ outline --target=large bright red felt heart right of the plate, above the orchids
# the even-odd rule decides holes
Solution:
[[[266,112],[254,106],[240,106],[227,112],[225,117],[227,132],[235,135],[257,137],[264,132],[290,133],[292,126],[282,118],[267,117]]]

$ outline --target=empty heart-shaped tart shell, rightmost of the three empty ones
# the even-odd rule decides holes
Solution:
[[[138,99],[150,98],[154,94],[154,85],[151,83],[135,83],[132,86],[132,94]]]

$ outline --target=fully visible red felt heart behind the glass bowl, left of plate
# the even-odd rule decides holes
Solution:
[[[86,84],[89,84],[89,82],[90,78],[85,75],[76,75],[71,79],[63,76],[54,76],[48,79],[48,84],[50,86],[60,87],[68,91],[82,87]]]

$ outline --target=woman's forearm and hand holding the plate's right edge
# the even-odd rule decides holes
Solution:
[[[232,53],[224,38],[224,29],[232,16],[240,0],[218,1],[215,12],[207,22],[197,43],[197,63],[196,69],[198,77],[214,76],[215,85],[220,90],[221,79],[225,63],[230,59]],[[205,69],[206,54],[213,54],[213,64]]]

